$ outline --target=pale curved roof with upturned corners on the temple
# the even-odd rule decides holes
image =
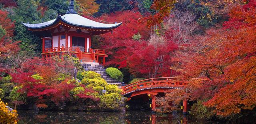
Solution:
[[[57,24],[59,21],[65,22],[67,24],[73,25],[73,26],[79,26],[84,28],[96,28],[96,29],[109,29],[109,28],[117,28],[122,24],[116,23],[116,24],[104,24],[100,22],[95,22],[93,20],[90,20],[88,18],[84,18],[83,16],[80,16],[78,14],[65,14],[63,16],[58,16],[54,20],[50,20],[48,22],[43,22],[39,24],[27,24],[23,23],[27,28],[31,29],[40,29],[40,28],[46,28],[48,26],[52,26],[54,24]]]

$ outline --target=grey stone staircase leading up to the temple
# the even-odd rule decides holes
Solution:
[[[100,74],[100,77],[102,77],[108,84],[115,84],[117,86],[122,86],[121,82],[118,82],[117,80],[114,80],[108,76],[106,73],[106,69],[104,66],[96,63],[96,62],[86,62],[86,64],[82,63],[82,67],[84,68],[85,71],[93,71],[98,74]]]

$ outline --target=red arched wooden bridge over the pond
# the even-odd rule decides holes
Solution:
[[[207,79],[200,78],[192,78],[188,81],[174,77],[150,78],[122,86],[122,95],[130,100],[132,97],[147,94],[152,98],[152,110],[154,111],[156,108],[156,95],[158,95],[158,93],[168,93],[171,92],[172,89],[183,89],[193,80],[197,82],[209,81]],[[183,100],[183,112],[187,112],[187,100]]]

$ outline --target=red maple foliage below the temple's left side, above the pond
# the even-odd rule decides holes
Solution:
[[[10,75],[15,83],[22,86],[19,92],[27,93],[27,97],[38,98],[38,103],[50,100],[59,105],[70,98],[69,92],[75,87],[74,82],[68,83],[68,76],[64,81],[57,80],[61,73],[58,72],[59,64],[63,63],[53,58],[35,57],[24,62],[23,70],[16,70],[16,73]],[[42,79],[32,78],[34,74],[38,74]]]

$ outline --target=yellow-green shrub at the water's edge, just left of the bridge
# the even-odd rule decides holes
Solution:
[[[124,106],[124,98],[118,93],[104,94],[98,105],[104,110],[119,110]]]

